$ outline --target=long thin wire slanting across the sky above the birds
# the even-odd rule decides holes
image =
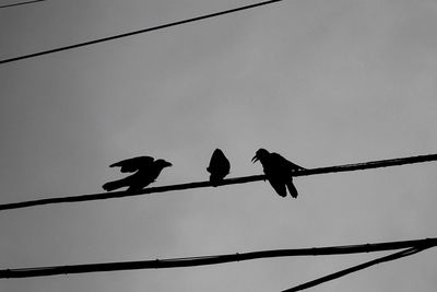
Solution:
[[[188,20],[182,20],[182,21],[176,21],[176,22],[172,22],[172,23],[167,23],[167,24],[162,24],[162,25],[157,25],[157,26],[153,26],[153,27],[135,31],[135,32],[119,34],[119,35],[115,35],[115,36],[108,36],[108,37],[94,39],[94,40],[88,40],[88,42],[84,42],[84,43],[80,43],[80,44],[75,44],[75,45],[70,45],[70,46],[66,46],[66,47],[59,47],[59,48],[55,48],[55,49],[43,50],[43,51],[29,54],[29,55],[24,55],[24,56],[20,56],[20,57],[15,57],[15,58],[4,59],[4,60],[0,60],[0,63],[13,62],[13,61],[19,61],[19,60],[28,59],[28,58],[33,58],[33,57],[38,57],[38,56],[43,56],[43,55],[54,54],[54,52],[57,52],[57,51],[62,51],[62,50],[68,50],[68,49],[90,46],[90,45],[94,45],[94,44],[98,44],[98,43],[103,43],[103,42],[108,42],[108,40],[113,40],[113,39],[117,39],[117,38],[122,38],[122,37],[128,37],[128,36],[132,36],[132,35],[143,34],[143,33],[149,33],[149,32],[152,32],[152,31],[157,31],[157,30],[163,30],[163,28],[167,28],[167,27],[170,27],[170,26],[176,26],[176,25],[181,25],[181,24],[186,24],[186,23],[190,23],[190,22],[201,21],[201,20],[205,20],[205,19],[210,19],[210,17],[215,17],[215,16],[228,14],[228,13],[234,13],[234,12],[241,11],[241,10],[247,10],[247,9],[252,9],[252,8],[257,8],[257,7],[261,7],[261,5],[272,4],[272,3],[281,2],[281,1],[284,1],[284,0],[270,0],[270,1],[264,1],[264,2],[255,3],[255,4],[250,4],[250,5],[239,7],[239,8],[229,9],[229,10],[225,10],[225,11],[221,11],[221,12],[215,12],[215,13],[211,13],[211,14],[206,14],[206,15],[202,15],[202,16],[188,19]]]

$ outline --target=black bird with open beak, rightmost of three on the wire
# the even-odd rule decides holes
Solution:
[[[277,153],[270,153],[265,149],[259,149],[252,162],[260,161],[270,185],[281,197],[286,196],[286,188],[293,198],[297,198],[297,189],[293,185],[293,172],[305,170],[304,167],[287,161]]]

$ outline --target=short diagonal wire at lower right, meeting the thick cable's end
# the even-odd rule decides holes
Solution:
[[[334,279],[344,277],[344,276],[346,276],[349,273],[356,272],[356,271],[369,268],[371,266],[375,266],[375,265],[378,265],[378,264],[381,264],[381,262],[387,262],[387,261],[391,261],[391,260],[394,260],[394,259],[399,259],[399,258],[402,258],[402,257],[406,257],[406,256],[411,256],[411,255],[421,253],[421,252],[423,252],[423,250],[425,250],[427,248],[430,248],[430,247],[433,247],[433,246],[411,247],[411,248],[408,248],[408,249],[404,249],[404,250],[401,250],[401,252],[398,252],[398,253],[394,253],[394,254],[391,254],[391,255],[388,255],[388,256],[385,256],[385,257],[380,257],[380,258],[377,258],[377,259],[374,259],[374,260],[370,260],[370,261],[367,261],[367,262],[364,262],[364,264],[361,264],[361,265],[357,265],[357,266],[354,266],[354,267],[351,267],[351,268],[347,268],[347,269],[344,269],[344,270],[341,270],[341,271],[338,271],[338,272],[334,272],[334,273],[330,273],[328,276],[324,276],[324,277],[321,277],[319,279],[306,282],[304,284],[299,284],[299,285],[296,285],[294,288],[291,288],[291,289],[287,289],[287,290],[283,290],[282,292],[296,292],[296,291],[302,291],[302,290],[305,290],[305,289],[308,289],[308,288],[312,288],[315,285],[319,285],[319,284],[322,284],[324,282],[332,281]]]

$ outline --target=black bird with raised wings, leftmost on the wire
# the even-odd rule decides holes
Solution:
[[[139,156],[116,162],[109,167],[120,167],[122,173],[134,174],[114,182],[106,183],[102,187],[106,191],[128,187],[127,191],[138,191],[149,186],[160,176],[161,172],[173,164],[165,160],[154,160],[151,156]]]

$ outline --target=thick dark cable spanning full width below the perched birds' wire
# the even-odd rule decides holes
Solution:
[[[415,240],[415,241],[403,241],[403,242],[386,242],[386,243],[375,243],[375,244],[312,247],[312,248],[297,248],[297,249],[272,249],[272,250],[261,250],[261,252],[251,252],[241,254],[236,253],[227,255],[185,257],[185,258],[172,258],[172,259],[153,259],[153,260],[139,260],[139,261],[85,264],[85,265],[74,265],[74,266],[4,269],[0,270],[0,279],[45,277],[55,275],[86,273],[86,272],[98,272],[98,271],[182,268],[182,267],[196,267],[205,265],[217,265],[232,261],[252,260],[260,258],[345,255],[345,254],[393,250],[393,249],[402,249],[409,247],[429,248],[436,245],[437,245],[437,237]]]

